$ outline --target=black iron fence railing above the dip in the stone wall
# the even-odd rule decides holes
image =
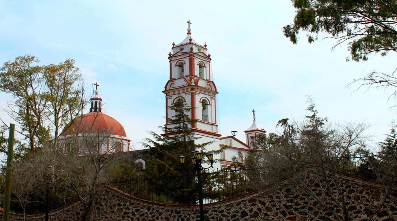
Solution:
[[[202,171],[204,203],[242,196],[254,191],[245,170]],[[116,186],[137,198],[165,204],[198,204],[198,185],[195,174],[173,177],[139,177],[117,182]]]

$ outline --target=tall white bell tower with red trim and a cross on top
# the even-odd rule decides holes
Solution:
[[[218,139],[216,122],[216,86],[211,76],[211,55],[207,52],[206,43],[198,44],[191,37],[191,22],[187,21],[187,37],[179,44],[172,44],[172,52],[168,55],[170,61],[170,79],[163,93],[166,95],[166,119],[175,113],[168,107],[177,99],[183,99],[192,109],[188,113],[196,123],[191,125],[195,135],[202,137],[203,142]],[[172,124],[166,121],[166,128]],[[167,131],[165,135],[167,134]],[[218,147],[219,149],[219,143]],[[207,148],[212,149],[212,148]]]

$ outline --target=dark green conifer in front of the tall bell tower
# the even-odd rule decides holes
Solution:
[[[171,125],[161,127],[168,135],[160,135],[149,131],[153,138],[146,138],[144,146],[151,150],[151,154],[147,155],[145,173],[148,177],[175,177],[169,183],[152,183],[152,189],[157,190],[156,194],[162,194],[164,191],[174,193],[187,192],[191,196],[186,198],[186,195],[171,197],[170,203],[178,204],[195,204],[197,199],[193,192],[197,192],[197,186],[191,175],[186,176],[186,169],[193,169],[192,164],[187,164],[184,167],[178,159],[178,156],[184,155],[189,160],[193,154],[193,150],[205,152],[205,146],[212,142],[205,142],[197,144],[195,142],[199,139],[193,134],[191,125],[195,124],[188,114],[191,107],[183,102],[183,99],[177,99],[173,105],[169,107],[175,112],[175,115],[168,118]],[[212,151],[219,153],[219,151]],[[203,181],[204,182],[204,181]],[[193,184],[193,185],[192,185]]]

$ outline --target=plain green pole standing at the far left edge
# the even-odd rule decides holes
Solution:
[[[14,152],[15,124],[10,124],[10,135],[8,136],[6,190],[4,191],[3,221],[10,220],[10,198],[11,198],[11,176]]]

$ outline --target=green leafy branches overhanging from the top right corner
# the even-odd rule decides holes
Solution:
[[[339,45],[349,42],[354,61],[366,61],[370,53],[385,56],[397,49],[396,0],[292,0],[297,9],[292,25],[283,27],[284,35],[296,44],[300,30],[308,42],[326,32]]]

